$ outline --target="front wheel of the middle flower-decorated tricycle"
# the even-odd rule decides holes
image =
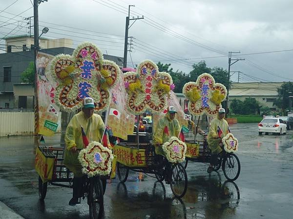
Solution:
[[[181,198],[187,190],[187,174],[182,164],[174,164],[171,169],[171,190],[176,198]]]

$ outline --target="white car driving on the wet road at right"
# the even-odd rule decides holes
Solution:
[[[258,134],[262,134],[265,132],[265,134],[271,133],[278,133],[286,134],[287,133],[287,125],[285,122],[280,118],[264,118],[259,124],[258,124]]]

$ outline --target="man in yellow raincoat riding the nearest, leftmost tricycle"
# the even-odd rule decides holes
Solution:
[[[73,198],[69,201],[69,205],[78,204],[78,198],[83,196],[84,174],[77,158],[77,149],[84,148],[81,126],[84,128],[89,142],[101,142],[103,138],[105,124],[100,115],[94,114],[94,108],[94,100],[90,97],[84,98],[82,111],[72,117],[66,128],[64,165],[74,174]],[[108,147],[110,147],[109,144]]]

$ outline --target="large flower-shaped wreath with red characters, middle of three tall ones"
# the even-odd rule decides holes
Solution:
[[[174,87],[170,74],[159,72],[150,60],[140,63],[136,71],[124,74],[127,109],[136,115],[146,110],[158,113],[166,109],[167,95]]]

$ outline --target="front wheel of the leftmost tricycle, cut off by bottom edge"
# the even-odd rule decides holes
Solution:
[[[99,219],[104,211],[103,185],[99,177],[90,178],[88,191],[89,218]]]

